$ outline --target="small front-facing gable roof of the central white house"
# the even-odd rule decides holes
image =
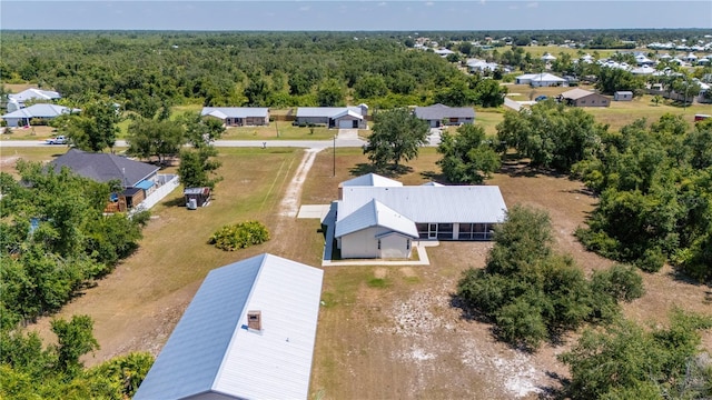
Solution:
[[[337,221],[334,237],[340,238],[345,234],[372,227],[383,227],[412,238],[418,237],[415,222],[377,200],[367,202],[358,210]]]

